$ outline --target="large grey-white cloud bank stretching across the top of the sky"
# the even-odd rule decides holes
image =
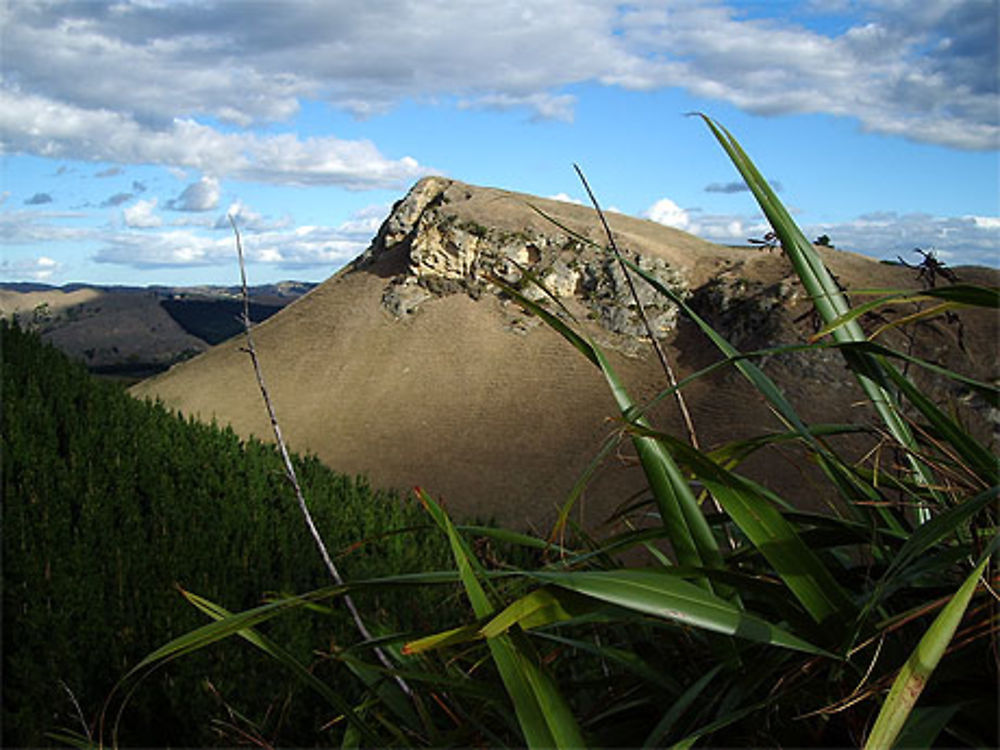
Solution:
[[[569,87],[596,82],[682,88],[763,115],[850,117],[956,148],[1000,143],[995,0],[850,7],[854,25],[823,34],[720,0],[384,0],[349,12],[296,2],[252,13],[227,0],[7,3],[0,137],[42,156],[396,187],[425,170],[365,141],[239,128],[286,121],[305,99],[358,116],[417,99],[570,120]]]

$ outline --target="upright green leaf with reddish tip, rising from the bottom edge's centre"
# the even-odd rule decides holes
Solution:
[[[451,519],[427,493],[417,495],[434,521],[445,532],[458,566],[466,595],[477,618],[493,614],[495,605],[480,579],[482,570]],[[518,637],[520,636],[520,637]],[[579,748],[584,746],[580,728],[551,678],[542,671],[523,633],[504,633],[486,641],[500,679],[514,704],[529,747]]]

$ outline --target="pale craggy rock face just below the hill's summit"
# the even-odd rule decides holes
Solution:
[[[587,317],[625,349],[634,347],[635,337],[647,336],[621,266],[603,243],[584,241],[544,217],[516,229],[485,226],[463,212],[462,204],[471,198],[461,183],[441,177],[421,180],[396,204],[359,259],[356,267],[392,254],[405,259],[405,270],[390,279],[382,295],[383,307],[394,317],[414,315],[427,300],[449,294],[473,299],[502,294],[491,283],[499,279],[542,304],[549,294],[582,302]],[[687,278],[668,260],[628,248],[623,252],[665,286],[687,296]],[[676,307],[649,284],[638,284],[636,291],[654,335],[668,336],[677,322]],[[508,325],[516,329],[524,324],[511,319]]]

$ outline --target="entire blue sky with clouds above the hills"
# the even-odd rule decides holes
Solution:
[[[0,280],[319,281],[427,174],[1000,265],[996,0],[7,0]]]

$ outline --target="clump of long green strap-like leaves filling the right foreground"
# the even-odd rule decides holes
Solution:
[[[997,587],[985,585],[996,582],[996,457],[894,367],[898,353],[868,340],[858,322],[863,310],[850,309],[735,138],[703,119],[826,326],[829,340],[813,346],[843,354],[869,412],[857,424],[806,424],[757,365],[776,351],[737,351],[671,290],[622,261],[644,279],[637,283],[679,305],[718,350],[717,367],[738,371],[748,398],[765,398],[777,416],[769,434],[695,449],[647,421],[603,351],[557,309],[558,298],[541,306],[518,285],[507,288],[606,379],[622,439],[634,444],[649,481],[636,506],[646,523],[612,539],[564,534],[574,492],[549,539],[463,529],[421,493],[451,550],[452,569],[442,575],[457,573],[470,611],[394,652],[398,674],[418,686],[412,696],[373,682],[366,670],[357,672],[365,697],[353,702],[345,702],[343,682],[304,678],[342,717],[342,746],[997,746]],[[890,293],[878,304],[904,296],[912,298]],[[948,302],[938,312],[998,307],[996,289],[938,287],[927,299]],[[937,372],[997,406],[995,386]],[[667,389],[660,398],[670,395]],[[882,450],[847,461],[830,441],[843,433],[867,435]],[[799,512],[795,497],[778,497],[739,473],[751,453],[789,441],[840,496],[838,515]],[[706,512],[709,498],[721,513]],[[541,564],[490,570],[480,545],[498,537],[542,550]],[[649,566],[627,566],[622,553],[634,560],[637,550]],[[314,591],[281,607],[302,609],[337,594]],[[231,635],[254,639],[248,628],[271,615],[212,610],[215,622],[164,645],[129,679]],[[273,642],[256,644],[294,668]]]

